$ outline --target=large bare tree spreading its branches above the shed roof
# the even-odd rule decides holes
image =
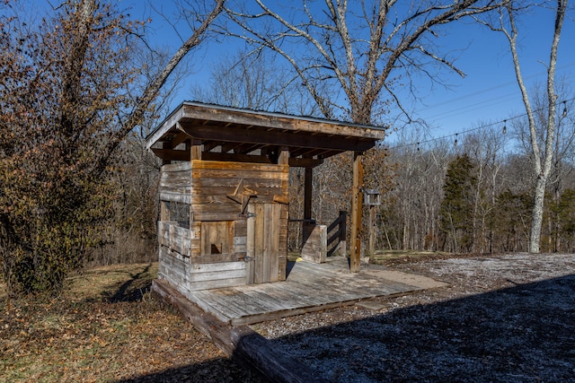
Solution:
[[[410,6],[394,0],[302,0],[277,8],[266,3],[256,0],[250,10],[228,6],[243,32],[226,32],[256,50],[270,48],[284,57],[326,118],[371,124],[381,122],[387,100],[403,109],[394,86],[413,89],[415,72],[432,77],[430,68],[439,65],[463,76],[450,57],[438,52],[436,38],[447,23],[501,2],[429,0]],[[321,83],[332,84],[329,93]]]

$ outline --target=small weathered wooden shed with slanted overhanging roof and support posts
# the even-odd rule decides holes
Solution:
[[[183,102],[146,139],[164,161],[159,278],[180,292],[286,279],[289,167],[312,170],[355,152],[351,271],[358,271],[361,156],[385,137],[374,126]]]

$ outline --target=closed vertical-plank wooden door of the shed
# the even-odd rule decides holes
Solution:
[[[279,281],[279,204],[249,204],[248,284]]]

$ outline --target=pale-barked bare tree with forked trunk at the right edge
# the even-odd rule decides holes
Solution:
[[[556,0],[554,5],[555,20],[553,23],[553,39],[549,50],[549,61],[546,64],[547,82],[546,97],[547,106],[546,120],[544,124],[543,137],[538,139],[537,120],[532,100],[526,88],[526,83],[521,71],[521,61],[517,49],[517,16],[519,10],[514,6],[515,2],[509,2],[500,9],[500,18],[497,24],[487,23],[492,30],[502,32],[509,41],[511,57],[517,78],[517,84],[523,103],[526,109],[529,126],[529,149],[533,155],[533,170],[535,175],[534,205],[532,212],[531,230],[529,233],[529,252],[538,253],[541,239],[541,228],[543,224],[545,187],[549,181],[549,175],[553,168],[553,158],[555,157],[556,142],[556,121],[555,113],[557,107],[557,94],[555,89],[555,67],[557,65],[557,52],[559,49],[559,39],[561,38],[563,20],[567,12],[568,0]]]

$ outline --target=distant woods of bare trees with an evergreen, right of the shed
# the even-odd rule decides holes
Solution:
[[[559,118],[559,117],[558,117]],[[560,117],[563,118],[563,117]],[[573,118],[562,134],[573,135]],[[492,253],[529,251],[534,205],[533,158],[521,143],[526,122],[427,144],[389,148],[394,187],[379,208],[380,248]],[[560,129],[561,131],[561,129]],[[554,156],[545,193],[540,246],[575,248],[575,163],[571,139]]]

